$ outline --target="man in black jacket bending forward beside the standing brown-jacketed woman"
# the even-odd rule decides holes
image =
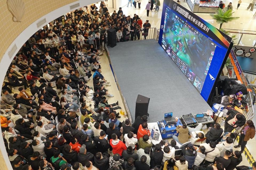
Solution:
[[[231,132],[234,128],[245,125],[246,118],[236,110],[229,110],[224,125],[224,133]]]

